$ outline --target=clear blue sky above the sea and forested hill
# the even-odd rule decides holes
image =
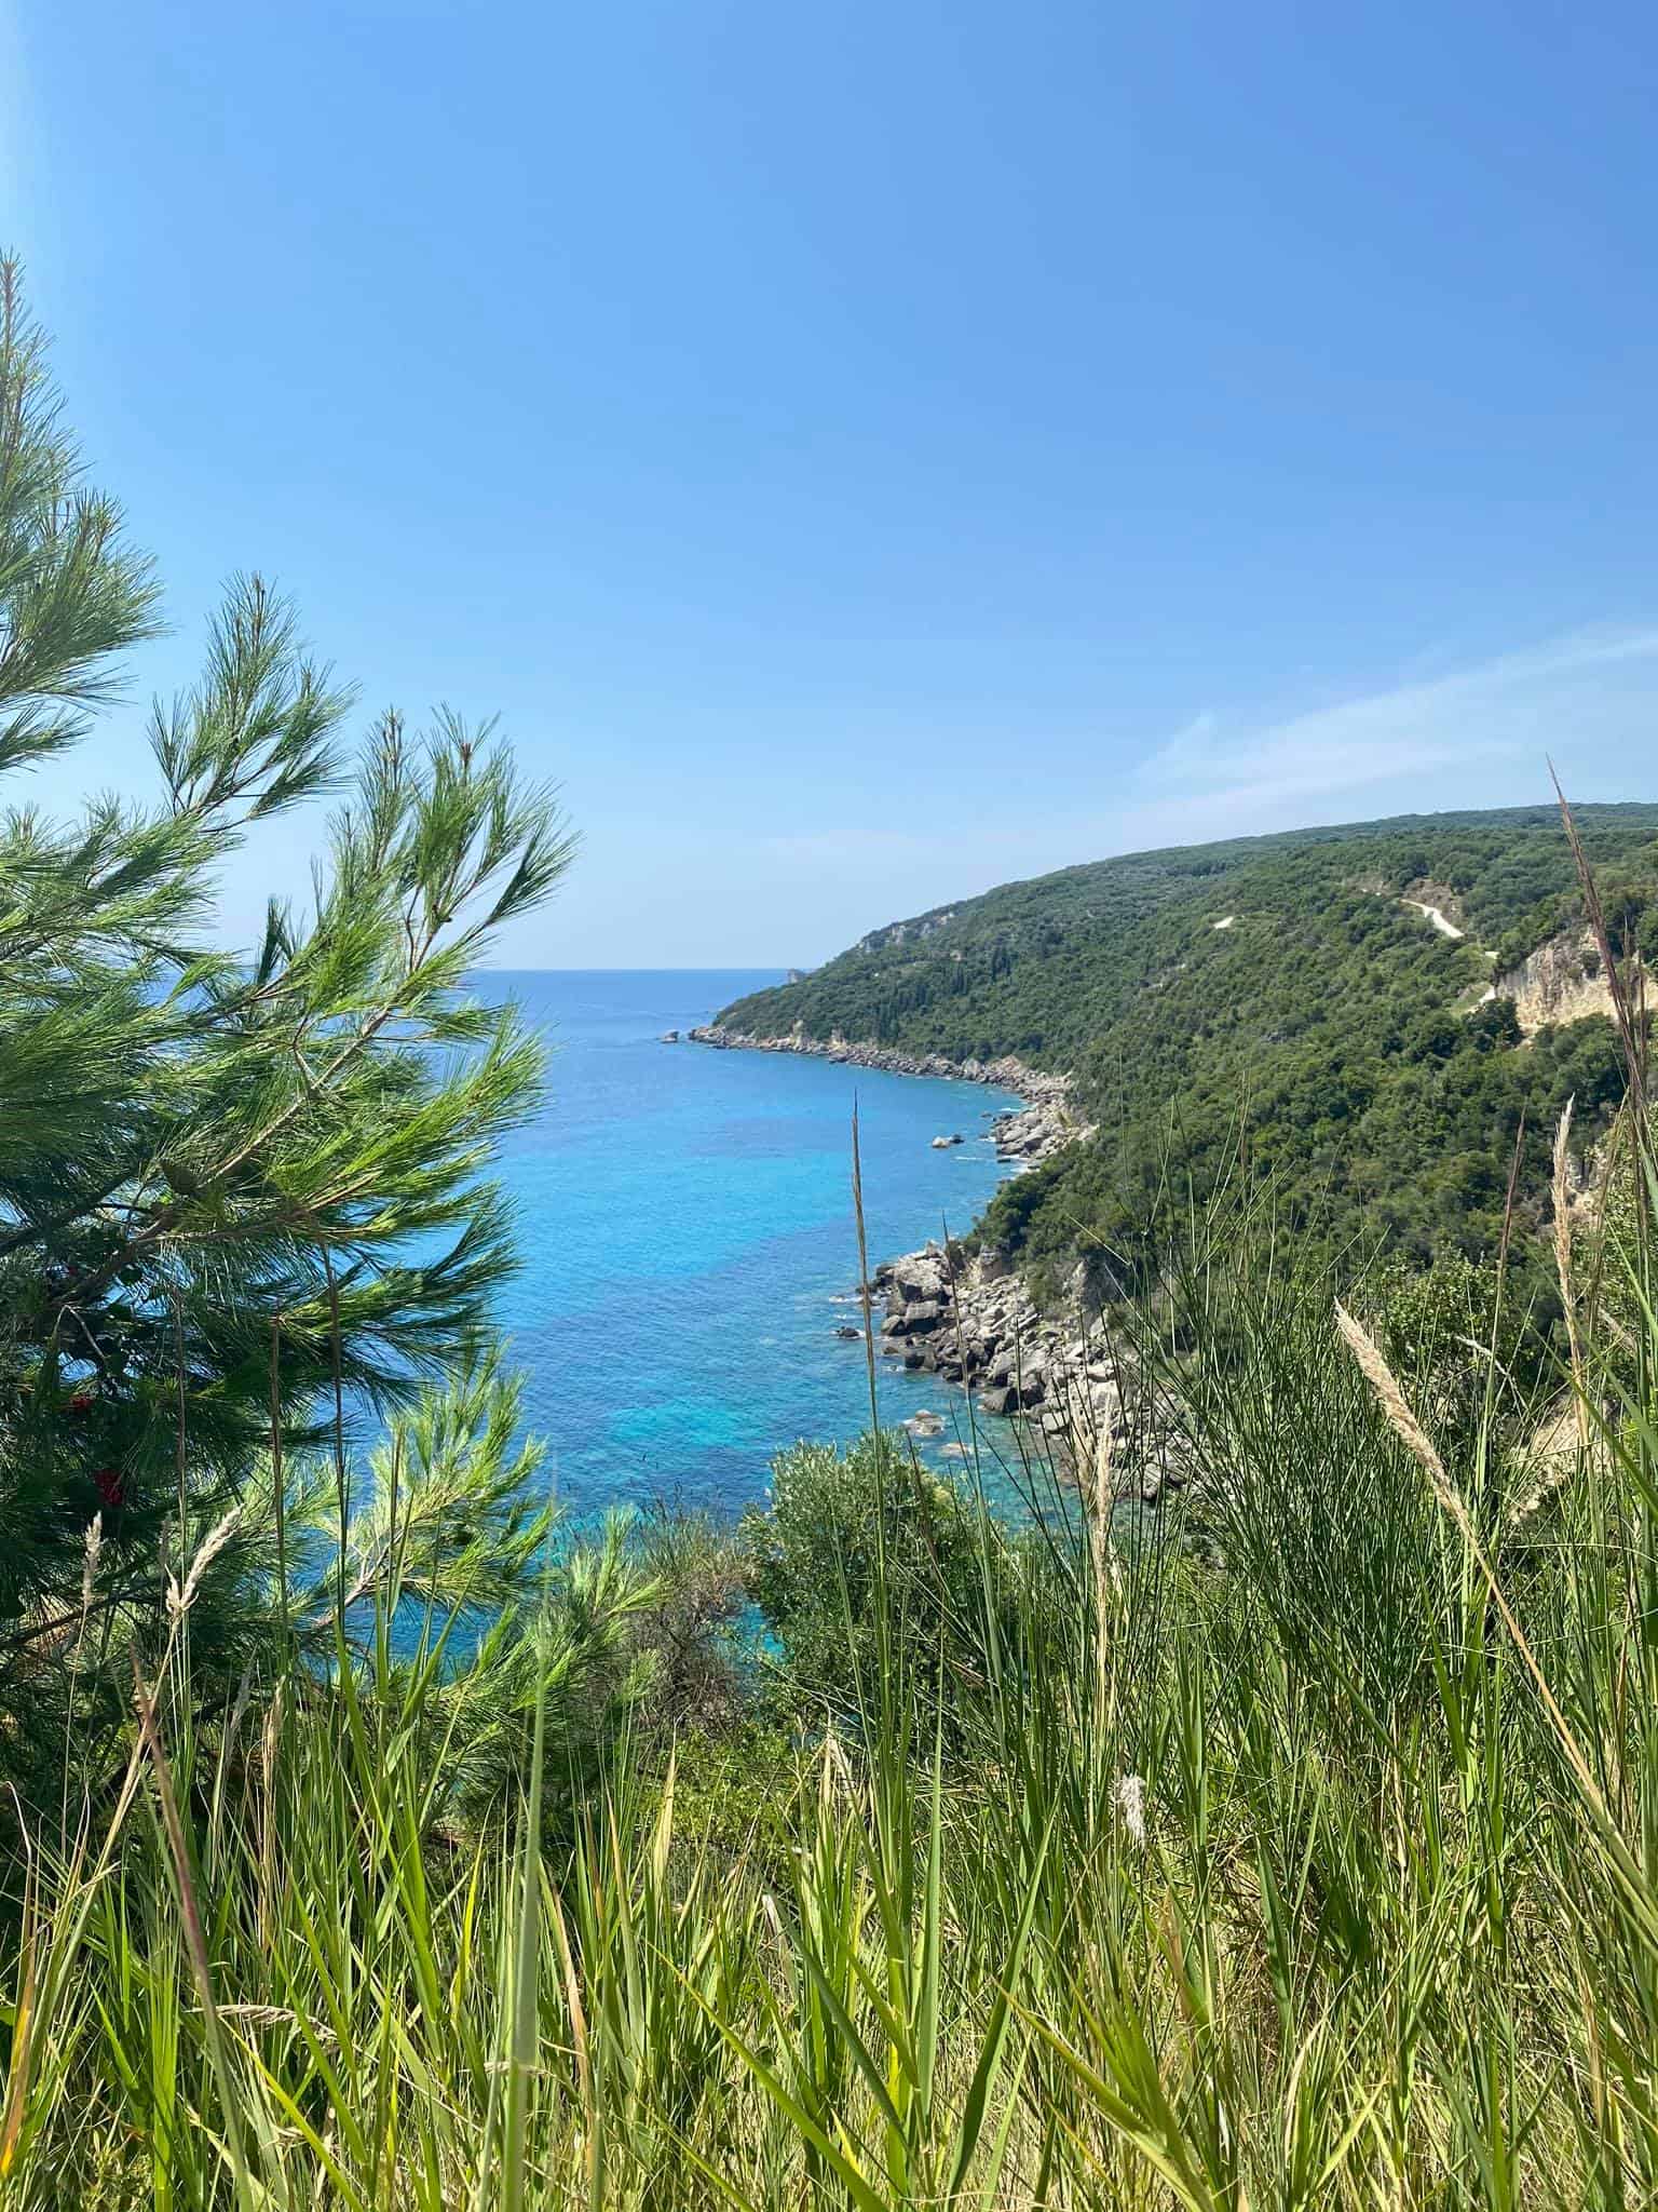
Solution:
[[[0,0],[0,71],[135,692],[259,566],[365,719],[500,710],[586,834],[508,962],[1658,796],[1647,7]]]

